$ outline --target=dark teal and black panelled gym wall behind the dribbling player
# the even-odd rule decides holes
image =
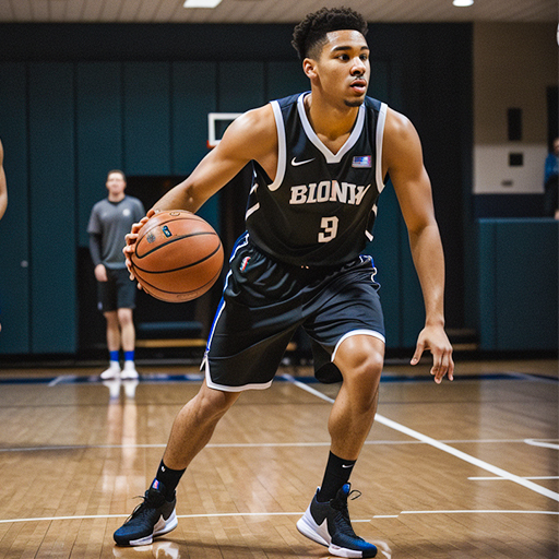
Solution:
[[[242,111],[306,88],[290,33],[284,25],[0,25],[10,191],[0,222],[0,355],[79,353],[76,254],[107,170],[188,175],[206,153],[209,111]],[[424,142],[448,254],[448,321],[460,328],[474,235],[472,26],[371,25],[369,43],[370,94],[405,112]],[[233,210],[243,206],[239,200]],[[231,207],[216,198],[204,211],[218,224]],[[389,347],[411,347],[424,310],[391,188],[371,250]]]

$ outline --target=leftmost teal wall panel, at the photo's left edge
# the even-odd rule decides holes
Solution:
[[[0,354],[31,349],[26,98],[25,64],[1,63],[0,139],[4,147],[9,203],[0,222]]]

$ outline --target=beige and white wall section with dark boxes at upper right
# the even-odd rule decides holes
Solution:
[[[552,118],[552,112],[548,117],[548,91],[555,87],[557,111],[557,84],[556,22],[474,25],[473,192],[477,216],[543,215],[544,160],[550,141],[548,118]],[[513,123],[518,135],[512,138],[509,109],[520,110]],[[511,165],[510,154],[521,157],[521,164]]]

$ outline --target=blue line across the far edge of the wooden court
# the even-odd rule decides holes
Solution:
[[[320,384],[314,377],[294,377],[304,384]],[[165,383],[165,382],[200,382],[203,379],[202,374],[140,374],[141,382],[148,383]],[[524,373],[524,372],[489,372],[481,374],[456,374],[454,382],[472,381],[472,380],[545,380],[548,382],[557,383],[559,379],[554,377],[546,377],[545,374]],[[405,382],[432,382],[430,374],[390,374],[383,373],[381,383],[405,383]],[[58,376],[58,377],[13,377],[8,379],[0,379],[2,384],[102,384],[104,381],[98,376],[83,376],[75,374]],[[106,381],[105,381],[106,382]],[[123,381],[126,382],[126,381]],[[276,376],[274,382],[286,382],[281,376]]]

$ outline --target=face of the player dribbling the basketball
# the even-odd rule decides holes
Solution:
[[[365,100],[370,78],[369,47],[365,37],[353,29],[328,34],[317,61],[321,88],[348,107],[358,107]]]

